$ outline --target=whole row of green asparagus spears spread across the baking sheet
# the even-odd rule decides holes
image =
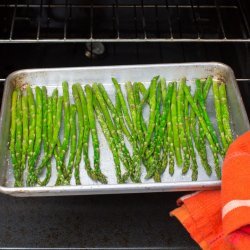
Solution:
[[[73,175],[77,185],[83,184],[80,178],[82,158],[87,175],[94,181],[107,183],[100,168],[97,122],[112,152],[118,183],[128,179],[141,182],[142,165],[147,171],[145,178],[159,182],[167,166],[169,174],[174,174],[175,162],[182,167],[183,174],[191,169],[195,181],[197,154],[206,173],[211,175],[206,145],[213,153],[215,172],[221,177],[219,157],[224,157],[233,141],[225,83],[213,81],[211,77],[197,79],[192,95],[185,78],[179,83],[166,84],[164,78],[156,76],[148,88],[141,82],[127,82],[124,95],[117,80],[112,78],[112,82],[116,91],[115,104],[104,86],[97,83],[86,85],[84,89],[79,83],[73,84],[74,103],[70,103],[67,82],[62,83],[62,96],[58,89],[49,96],[44,86],[35,87],[35,95],[30,86],[24,91],[13,91],[10,154],[15,186],[47,185],[53,158],[56,185],[69,185]],[[219,136],[206,108],[211,86]],[[150,112],[145,119],[143,110],[147,105]],[[89,159],[90,136],[93,166]]]

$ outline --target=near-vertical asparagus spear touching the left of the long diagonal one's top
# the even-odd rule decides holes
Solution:
[[[184,84],[186,84],[186,79],[183,78],[180,82],[178,96],[177,96],[177,109],[178,109],[178,129],[180,134],[180,143],[183,150],[184,165],[182,168],[182,174],[186,174],[190,166],[190,153],[189,144],[186,135],[185,128],[185,118],[184,118]]]

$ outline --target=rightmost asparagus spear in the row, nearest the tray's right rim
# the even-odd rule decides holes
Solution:
[[[233,135],[230,128],[230,117],[229,117],[229,109],[227,104],[227,93],[226,93],[226,84],[221,83],[219,86],[219,95],[220,95],[220,103],[221,103],[221,113],[222,113],[222,122],[225,131],[225,137],[227,139],[228,145],[233,142]]]

